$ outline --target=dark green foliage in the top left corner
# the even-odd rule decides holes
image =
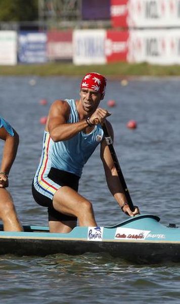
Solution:
[[[0,0],[0,21],[38,19],[38,0]]]

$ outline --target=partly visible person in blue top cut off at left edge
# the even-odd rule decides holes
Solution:
[[[19,136],[10,124],[0,116],[0,138],[5,141],[0,169],[0,218],[4,231],[22,231],[13,199],[7,190],[8,175],[16,157]]]

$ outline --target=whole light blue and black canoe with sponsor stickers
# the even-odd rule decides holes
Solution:
[[[49,233],[48,227],[25,225],[24,232],[4,232],[0,254],[46,256],[108,253],[136,263],[180,261],[180,229],[164,226],[156,215],[138,215],[113,226],[75,227],[70,233]]]

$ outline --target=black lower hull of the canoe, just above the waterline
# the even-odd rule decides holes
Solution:
[[[87,252],[109,253],[112,257],[136,263],[180,261],[180,243],[91,242],[72,240],[1,240],[0,254],[46,256],[57,253],[79,255]]]

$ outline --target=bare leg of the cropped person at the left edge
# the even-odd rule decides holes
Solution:
[[[4,231],[23,231],[13,199],[5,188],[0,188],[0,218],[3,220]]]

